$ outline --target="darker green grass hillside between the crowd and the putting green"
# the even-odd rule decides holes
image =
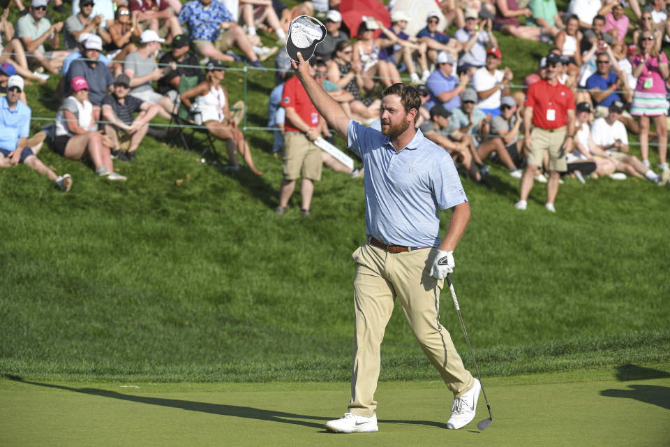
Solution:
[[[549,49],[499,40],[515,80]],[[272,78],[248,73],[249,126],[266,124]],[[54,116],[56,83],[27,87],[34,117]],[[243,98],[243,84],[242,73],[228,72],[231,103]],[[350,254],[365,240],[363,182],[325,170],[311,217],[300,217],[298,194],[278,217],[281,163],[271,132],[247,138],[262,177],[225,172],[225,155],[203,164],[149,137],[136,161],[117,163],[125,183],[98,179],[46,146],[40,159],[73,175],[69,194],[25,166],[0,171],[0,372],[53,380],[348,379]],[[225,154],[222,142],[217,147]],[[491,171],[487,186],[463,178],[472,218],[453,274],[482,373],[667,362],[667,188],[568,178],[556,215],[542,206],[542,185],[528,211],[517,212],[518,181],[500,166]],[[442,234],[448,218],[442,213]],[[442,295],[441,321],[471,366]],[[435,377],[398,309],[382,362],[382,380]]]

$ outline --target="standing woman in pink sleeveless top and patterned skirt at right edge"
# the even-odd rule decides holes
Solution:
[[[658,135],[658,168],[668,170],[665,158],[668,150],[668,103],[664,82],[670,76],[668,58],[664,52],[655,50],[651,31],[643,31],[637,45],[638,53],[632,59],[637,85],[630,114],[640,117],[640,155],[642,162],[649,166],[649,120],[653,119]]]

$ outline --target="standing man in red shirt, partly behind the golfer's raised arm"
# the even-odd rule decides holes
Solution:
[[[313,66],[310,67],[309,73],[313,78],[315,75]],[[297,77],[286,81],[281,105],[286,111],[286,133],[281,167],[283,178],[279,192],[279,206],[275,212],[277,214],[286,212],[288,200],[295,190],[295,181],[298,177],[302,177],[301,214],[308,216],[314,182],[321,179],[321,149],[313,141],[319,138],[322,119]]]

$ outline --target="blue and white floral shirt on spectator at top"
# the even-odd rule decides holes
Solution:
[[[214,42],[221,31],[221,22],[234,22],[228,8],[217,0],[212,0],[205,8],[199,0],[189,1],[179,11],[179,23],[188,27],[191,41]]]

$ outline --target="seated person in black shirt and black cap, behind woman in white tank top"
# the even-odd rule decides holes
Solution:
[[[188,41],[186,34],[179,34],[172,39],[172,50],[163,54],[158,64],[161,66],[170,66],[170,63],[177,64],[177,68],[165,73],[163,78],[158,80],[158,94],[168,96],[172,103],[179,103],[179,82],[181,76],[198,77],[202,82],[202,68],[198,62],[198,56],[190,51],[191,42]]]

